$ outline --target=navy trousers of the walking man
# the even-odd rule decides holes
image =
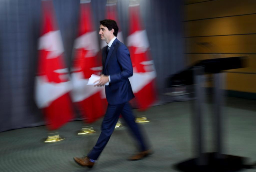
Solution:
[[[97,143],[95,144],[95,146],[88,153],[87,156],[89,158],[93,160],[97,160],[99,158],[101,152],[107,145],[115,129],[115,126],[119,119],[120,114],[122,115],[126,124],[130,128],[132,134],[135,136],[136,140],[138,141],[140,151],[147,150],[146,144],[139,130],[139,126],[137,123],[135,123],[135,117],[132,114],[130,104],[127,102],[119,105],[108,105],[106,115],[104,116],[104,119],[102,121],[100,137]]]

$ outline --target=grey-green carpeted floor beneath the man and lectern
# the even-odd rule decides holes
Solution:
[[[93,169],[78,166],[72,158],[85,155],[94,146],[101,121],[93,124],[97,133],[90,136],[76,135],[83,126],[82,121],[69,122],[59,130],[66,139],[55,144],[43,143],[47,137],[45,126],[1,132],[0,172],[175,172],[172,165],[194,156],[191,104],[192,101],[175,102],[146,112],[134,110],[136,115],[147,114],[150,119],[140,126],[155,153],[140,161],[127,161],[136,151],[136,142],[123,127],[114,131]],[[204,146],[206,151],[213,151],[210,101],[204,107]],[[223,114],[224,153],[248,157],[248,163],[255,162],[256,101],[228,97]]]

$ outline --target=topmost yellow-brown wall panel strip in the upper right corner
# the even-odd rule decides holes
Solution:
[[[216,0],[184,6],[184,20],[256,13],[255,0]]]

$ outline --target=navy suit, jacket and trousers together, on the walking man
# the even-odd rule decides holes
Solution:
[[[109,51],[108,46],[102,50],[102,73],[110,76],[109,86],[105,86],[108,108],[102,121],[100,137],[89,152],[88,157],[97,160],[112,135],[120,114],[135,135],[139,151],[147,150],[129,100],[134,98],[128,77],[133,75],[130,53],[127,47],[115,39]],[[107,55],[108,54],[108,55]],[[106,57],[107,56],[107,57]]]

